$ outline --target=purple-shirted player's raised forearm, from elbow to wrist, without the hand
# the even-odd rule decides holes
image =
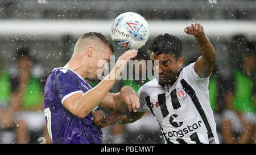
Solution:
[[[115,79],[110,79],[114,72],[110,72],[96,87],[90,91],[82,94],[79,101],[77,102],[75,109],[79,110],[79,115],[81,118],[86,117],[96,106],[98,106],[109,90],[114,85]]]

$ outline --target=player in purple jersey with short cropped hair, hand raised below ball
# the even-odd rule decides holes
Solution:
[[[119,62],[127,63],[137,55],[137,50],[121,55],[114,69],[96,87],[84,80],[97,80],[104,72],[104,66],[99,67],[98,62],[110,62],[113,52],[112,44],[103,35],[85,33],[76,42],[69,62],[49,73],[44,88],[44,114],[53,143],[102,143],[101,128],[92,118],[92,111],[100,103],[102,109],[117,111],[127,109],[126,104],[134,111],[139,107],[138,95],[131,87],[109,93],[125,66]]]

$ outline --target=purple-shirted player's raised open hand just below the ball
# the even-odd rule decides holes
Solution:
[[[117,62],[115,63],[115,77],[118,78],[122,71],[123,71],[123,67],[126,66],[127,62],[136,57],[137,56],[137,53],[138,53],[138,50],[128,50],[128,51],[125,51],[125,53],[123,53],[118,59],[117,59]]]

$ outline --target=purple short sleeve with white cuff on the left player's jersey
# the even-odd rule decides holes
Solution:
[[[79,79],[72,71],[61,68],[55,73],[54,88],[61,103],[75,93],[84,93],[79,85]]]

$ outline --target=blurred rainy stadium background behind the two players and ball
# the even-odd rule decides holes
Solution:
[[[228,100],[230,93],[236,98],[236,87],[240,86],[236,83],[237,76],[234,72],[236,68],[242,70],[243,58],[246,55],[254,54],[254,63],[246,65],[253,65],[255,68],[254,0],[0,0],[0,72],[5,72],[9,75],[6,77],[10,78],[9,81],[5,81],[8,78],[3,78],[4,74],[0,74],[0,107],[3,111],[0,115],[0,143],[41,143],[38,139],[45,134],[43,109],[32,108],[42,104],[40,93],[43,93],[43,89],[36,91],[37,87],[31,88],[36,92],[30,93],[39,93],[39,96],[33,95],[32,99],[25,97],[27,102],[23,97],[23,101],[19,102],[22,106],[14,114],[10,116],[6,112],[10,102],[15,101],[15,93],[18,92],[18,53],[28,53],[31,56],[31,77],[38,79],[35,85],[42,84],[43,88],[48,72],[55,67],[64,66],[71,58],[78,37],[85,32],[102,32],[110,40],[110,26],[113,20],[127,11],[141,14],[149,24],[150,38],[140,52],[147,55],[148,44],[152,38],[163,33],[171,33],[183,42],[184,66],[195,61],[200,52],[195,38],[186,35],[183,29],[190,23],[201,23],[204,26],[217,57],[212,74],[213,80],[209,87],[220,142],[255,143],[255,69],[249,74],[251,83],[248,88],[244,88],[249,89],[249,97],[253,104],[249,103],[249,106],[246,106],[247,102],[241,103],[245,105],[245,109],[227,106],[231,101]],[[116,58],[122,52],[123,50],[115,46]],[[243,81],[246,83],[246,80]],[[122,85],[123,82],[118,81],[111,91],[118,92]],[[39,99],[35,99],[36,97]],[[31,101],[38,104],[30,103]],[[148,114],[133,124],[106,127],[103,129],[103,141],[164,143],[159,124],[155,121],[151,114]],[[233,133],[233,140],[229,139],[228,131]],[[248,132],[249,134],[246,134]],[[19,139],[18,136],[24,139]]]

